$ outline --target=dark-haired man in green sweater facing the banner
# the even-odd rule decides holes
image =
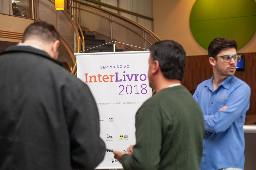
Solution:
[[[150,48],[148,79],[156,94],[136,114],[136,144],[113,151],[125,170],[198,170],[203,153],[201,108],[181,85],[186,54],[174,41]]]

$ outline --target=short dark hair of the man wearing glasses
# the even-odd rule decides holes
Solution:
[[[226,48],[236,48],[237,42],[227,38],[216,38],[208,46],[208,57],[216,57],[221,50]]]

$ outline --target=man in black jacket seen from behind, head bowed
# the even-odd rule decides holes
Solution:
[[[36,22],[0,55],[0,169],[94,169],[104,158],[86,84],[59,65],[59,35]]]

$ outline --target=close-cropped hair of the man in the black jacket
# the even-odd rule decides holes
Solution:
[[[44,22],[34,22],[25,29],[22,42],[28,39],[39,39],[46,43],[56,40],[60,41],[59,33],[53,25]]]

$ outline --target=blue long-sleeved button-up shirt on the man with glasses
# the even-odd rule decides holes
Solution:
[[[199,103],[205,120],[201,170],[226,167],[243,169],[245,114],[249,109],[250,87],[235,76],[229,76],[216,90],[213,78],[197,86],[193,97]],[[227,106],[225,111],[219,111]]]

